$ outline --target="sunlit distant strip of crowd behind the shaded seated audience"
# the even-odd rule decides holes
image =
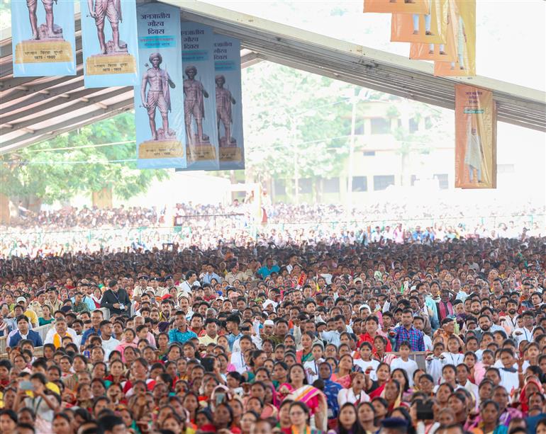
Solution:
[[[435,240],[513,238],[546,235],[545,207],[496,205],[365,204],[347,215],[340,205],[287,205],[264,201],[262,218],[247,203],[172,207],[65,207],[32,213],[21,210],[9,227],[0,226],[0,257],[116,253],[131,249],[182,248],[218,244],[430,244]],[[513,205],[513,206],[512,206]],[[486,217],[480,217],[486,216]],[[173,222],[175,226],[173,227]]]

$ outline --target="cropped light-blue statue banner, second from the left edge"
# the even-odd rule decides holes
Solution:
[[[138,81],[135,1],[80,0],[79,8],[85,87],[135,86]]]

